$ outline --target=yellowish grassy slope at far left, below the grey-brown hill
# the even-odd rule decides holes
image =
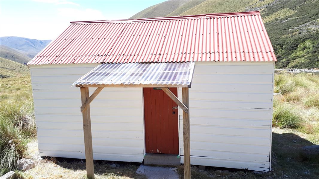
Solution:
[[[0,57],[0,78],[15,77],[29,73],[26,65]]]

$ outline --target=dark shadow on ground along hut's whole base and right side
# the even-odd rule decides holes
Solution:
[[[245,179],[262,179],[262,178],[292,178],[292,179],[318,179],[319,177],[319,158],[318,160],[309,161],[302,157],[301,148],[304,146],[315,145],[300,136],[293,133],[272,133],[272,171],[256,172],[240,169],[228,169],[218,167],[206,167],[206,170],[199,170],[198,166],[192,166],[192,179],[208,178],[245,178]],[[315,156],[314,156],[315,157]],[[70,170],[84,170],[85,160],[70,158],[53,158],[57,165]],[[117,167],[112,168],[115,164]],[[133,162],[111,162],[97,161],[94,164],[94,172],[100,176],[127,176],[130,178],[146,178],[137,175],[139,163]],[[223,172],[216,172],[216,171]],[[178,173],[183,178],[183,167],[178,168]]]

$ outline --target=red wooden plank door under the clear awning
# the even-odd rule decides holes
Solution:
[[[169,88],[177,96],[177,88]],[[146,153],[178,154],[177,104],[160,88],[143,88]]]

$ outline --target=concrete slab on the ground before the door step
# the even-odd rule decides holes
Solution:
[[[179,179],[176,168],[145,166],[141,164],[136,170],[137,174],[144,174],[148,179]]]

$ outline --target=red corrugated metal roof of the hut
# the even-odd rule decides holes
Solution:
[[[28,65],[276,61],[260,13],[71,22]]]

